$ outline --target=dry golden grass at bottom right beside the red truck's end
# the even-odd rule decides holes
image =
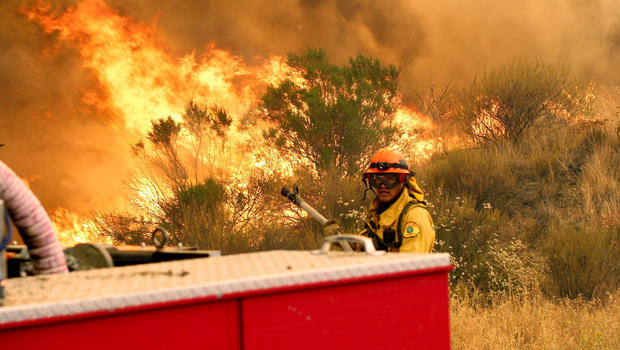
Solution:
[[[453,349],[620,349],[620,291],[596,301],[540,295],[451,301]]]

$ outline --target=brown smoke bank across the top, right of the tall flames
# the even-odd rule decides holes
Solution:
[[[397,65],[406,86],[469,80],[485,68],[537,57],[620,83],[616,0],[110,3],[142,21],[156,18],[178,53],[206,42],[248,58],[320,47],[337,63],[361,53]]]

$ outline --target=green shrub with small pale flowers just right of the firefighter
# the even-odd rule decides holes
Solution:
[[[476,209],[469,197],[441,194],[430,210],[436,227],[435,250],[452,256],[453,286],[487,295],[520,295],[537,288],[536,262],[500,211],[489,203]]]

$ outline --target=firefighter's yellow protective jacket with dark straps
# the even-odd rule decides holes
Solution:
[[[422,191],[413,180],[414,190],[403,189],[398,199],[381,214],[379,200],[368,208],[365,228],[361,235],[373,240],[375,248],[389,252],[431,253],[435,243],[433,219],[422,201]],[[415,193],[418,191],[418,193]],[[408,204],[411,203],[411,204]],[[404,214],[401,215],[401,213]],[[399,231],[400,230],[400,231]]]

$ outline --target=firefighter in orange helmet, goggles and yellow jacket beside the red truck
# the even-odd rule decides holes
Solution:
[[[400,152],[382,148],[372,157],[363,181],[376,198],[370,203],[361,235],[372,239],[375,248],[389,252],[430,253],[435,242],[433,219],[414,173]],[[328,221],[324,233],[342,229]]]

